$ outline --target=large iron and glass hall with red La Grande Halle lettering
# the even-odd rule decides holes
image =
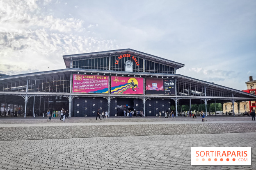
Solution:
[[[66,69],[19,75],[0,74],[1,110],[24,116],[69,110],[70,116],[110,116],[141,110],[155,116],[181,105],[256,101],[256,95],[176,74],[184,64],[133,49],[63,56]],[[207,112],[207,107],[203,110]]]

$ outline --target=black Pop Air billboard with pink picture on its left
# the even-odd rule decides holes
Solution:
[[[174,79],[146,78],[146,94],[175,95]]]

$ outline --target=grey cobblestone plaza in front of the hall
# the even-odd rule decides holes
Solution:
[[[0,169],[256,169],[256,121],[206,119],[1,117]],[[191,166],[191,147],[252,147],[252,166]]]

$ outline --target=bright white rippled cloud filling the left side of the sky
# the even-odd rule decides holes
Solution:
[[[62,55],[116,47],[114,40],[87,35],[90,33],[83,27],[83,20],[41,13],[42,7],[36,0],[0,3],[0,58],[4,63],[0,64],[0,72],[3,74],[45,71],[48,67],[62,69],[65,68]]]

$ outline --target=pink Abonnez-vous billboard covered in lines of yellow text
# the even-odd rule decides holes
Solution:
[[[108,76],[73,74],[73,93],[107,93]]]

